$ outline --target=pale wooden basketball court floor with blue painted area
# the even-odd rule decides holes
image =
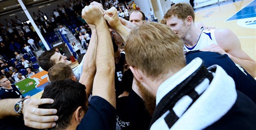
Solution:
[[[256,60],[256,1],[232,0],[195,10],[195,22],[217,29],[230,29],[238,36],[242,49]],[[40,98],[43,91],[33,95]]]

